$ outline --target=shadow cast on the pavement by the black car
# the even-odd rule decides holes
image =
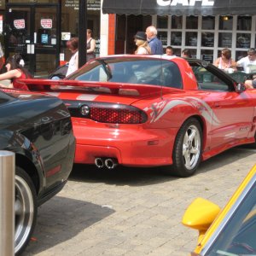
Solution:
[[[56,195],[38,208],[36,229],[22,256],[41,253],[68,241],[113,212],[109,207]]]

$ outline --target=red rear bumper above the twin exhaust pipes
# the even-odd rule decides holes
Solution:
[[[124,125],[125,126],[125,125]],[[73,124],[75,163],[94,164],[97,157],[115,158],[123,166],[172,165],[175,131],[145,130],[134,125],[119,129]]]

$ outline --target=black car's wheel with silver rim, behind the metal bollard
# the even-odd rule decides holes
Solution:
[[[15,168],[15,255],[20,255],[30,241],[38,215],[37,195],[31,177]]]

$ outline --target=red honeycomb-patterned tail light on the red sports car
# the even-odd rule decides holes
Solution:
[[[142,124],[148,119],[146,113],[141,109],[123,105],[114,105],[114,107],[91,107],[90,119],[113,124]]]

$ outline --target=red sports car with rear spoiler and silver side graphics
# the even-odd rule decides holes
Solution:
[[[66,102],[76,163],[170,166],[186,177],[225,149],[256,146],[256,90],[207,61],[109,55],[67,79],[26,84]]]

